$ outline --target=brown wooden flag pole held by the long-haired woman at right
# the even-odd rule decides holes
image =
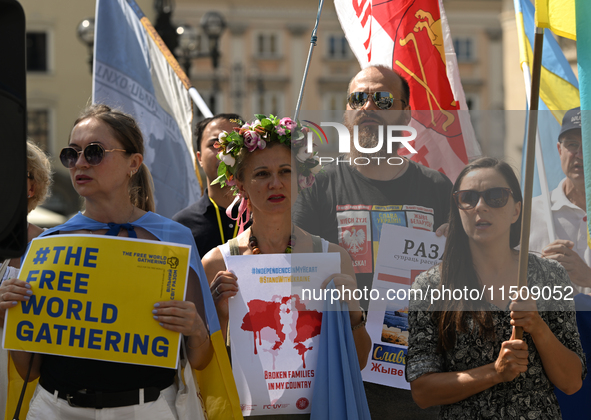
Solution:
[[[536,27],[534,38],[534,59],[531,78],[531,96],[527,126],[527,151],[525,159],[525,182],[521,208],[521,248],[519,250],[518,290],[527,286],[527,264],[529,255],[529,231],[531,223],[531,199],[533,192],[534,165],[536,159],[536,134],[538,132],[538,103],[540,100],[540,73],[542,69],[542,48],[544,28]],[[523,338],[523,327],[515,327],[515,338]]]

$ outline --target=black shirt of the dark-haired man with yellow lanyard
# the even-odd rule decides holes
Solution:
[[[216,246],[222,245],[234,237],[237,221],[226,216],[226,209],[223,207],[219,207],[219,214],[225,241],[222,241],[216,209],[209,199],[207,190],[199,201],[179,211],[172,217],[175,222],[179,222],[191,229],[201,258]],[[237,214],[238,205],[236,204],[232,209],[232,215],[237,217]]]

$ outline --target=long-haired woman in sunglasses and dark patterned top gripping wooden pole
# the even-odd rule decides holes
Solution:
[[[568,394],[587,368],[572,300],[516,300],[522,197],[506,163],[482,158],[459,174],[441,264],[413,289],[467,290],[436,302],[411,295],[406,377],[423,408],[443,419],[561,418],[554,386]],[[528,288],[567,291],[554,261],[529,255]],[[483,293],[471,300],[471,290]],[[502,292],[504,290],[504,293]],[[510,297],[512,299],[510,299]],[[514,327],[524,339],[515,339]]]

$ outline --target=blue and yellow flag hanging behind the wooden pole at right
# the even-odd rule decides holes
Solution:
[[[547,4],[548,1],[546,0]],[[535,34],[534,6],[529,0],[514,0],[515,19],[517,22],[517,36],[519,40],[519,62],[522,66],[533,67],[533,45]],[[540,102],[538,109],[538,132],[544,166],[548,180],[548,189],[551,191],[558,186],[564,178],[560,167],[560,156],[556,149],[558,133],[564,113],[569,109],[580,105],[579,83],[570,64],[564,57],[560,46],[551,32],[544,33],[544,48],[542,53],[542,70],[540,81]],[[525,143],[525,142],[524,142]],[[524,150],[525,150],[524,144]],[[525,154],[523,159],[525,159]],[[522,179],[525,171],[525,160],[522,163]],[[537,166],[535,170],[533,196],[541,194],[540,184],[537,181]]]

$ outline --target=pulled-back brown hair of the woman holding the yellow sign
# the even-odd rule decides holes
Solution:
[[[105,123],[113,136],[127,150],[128,154],[139,153],[144,155],[144,137],[137,122],[131,115],[118,109],[112,109],[104,104],[94,104],[85,108],[74,127],[81,121],[95,118]],[[145,211],[154,211],[154,182],[152,175],[145,163],[142,163],[136,174],[132,174],[129,180],[129,199],[131,203]]]

